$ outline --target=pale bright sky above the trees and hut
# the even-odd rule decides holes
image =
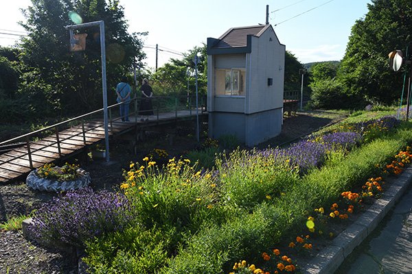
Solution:
[[[170,58],[202,46],[207,38],[219,38],[231,27],[264,24],[266,5],[269,23],[279,41],[301,63],[341,60],[351,28],[367,14],[371,0],[119,0],[124,7],[128,32],[144,36],[146,64],[155,68]],[[30,0],[2,0],[0,46],[11,46],[24,32],[17,22],[25,21],[20,8]],[[81,16],[81,14],[80,14]],[[4,34],[8,33],[8,34]],[[172,51],[173,53],[171,53]]]

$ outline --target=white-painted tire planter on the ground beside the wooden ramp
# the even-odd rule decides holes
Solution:
[[[64,181],[58,182],[53,179],[46,179],[37,176],[37,170],[31,171],[27,175],[26,184],[34,190],[49,191],[49,192],[60,192],[73,190],[78,188],[84,188],[89,186],[91,179],[90,173],[84,171],[84,169],[78,169],[77,172],[81,176],[74,181]]]

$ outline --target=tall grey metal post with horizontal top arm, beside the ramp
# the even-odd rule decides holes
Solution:
[[[107,84],[106,84],[106,45],[104,40],[104,21],[95,21],[89,23],[82,23],[77,25],[68,25],[65,29],[70,32],[70,44],[73,48],[76,45],[76,40],[73,39],[73,29],[81,29],[84,27],[100,27],[100,51],[102,55],[102,93],[103,93],[103,121],[104,121],[104,141],[106,149],[106,162],[110,162],[108,151],[108,114],[107,114]]]

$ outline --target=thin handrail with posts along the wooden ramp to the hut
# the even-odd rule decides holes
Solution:
[[[185,99],[185,101],[186,101],[186,103],[185,103],[185,109],[189,109],[190,110],[190,114],[192,114],[192,97],[193,96],[190,96],[190,97],[187,97],[187,95],[173,95],[173,96],[154,96],[154,97],[152,97],[152,100],[156,100],[157,101],[157,108],[154,106],[154,108],[152,109],[154,112],[156,111],[157,113],[155,114],[156,116],[157,116],[157,121],[159,121],[159,113],[161,112],[161,110],[166,110],[166,111],[168,111],[168,112],[171,112],[172,111],[172,109],[173,108],[167,108],[167,106],[165,106],[164,108],[160,108],[160,105],[159,105],[159,103],[160,103],[160,101],[161,101],[161,99],[173,99],[174,98],[174,113],[175,113],[175,119],[177,119],[177,111],[178,111],[178,107],[179,107],[179,104],[178,104],[178,102],[179,102],[179,98],[181,98],[181,99]],[[135,105],[135,110],[134,110],[134,112],[130,112],[129,113],[129,115],[130,116],[132,116],[133,114],[135,114],[135,120],[137,121],[137,115],[138,115],[138,113],[139,113],[139,110],[137,109],[137,102],[138,101],[141,101],[141,97],[135,97],[135,98],[133,98],[133,99],[131,99],[130,100],[130,103],[132,103],[132,102],[134,102],[134,105]],[[205,103],[206,103],[206,100],[204,100],[205,99],[205,97],[201,97],[201,101],[203,102],[203,105],[205,105]],[[109,111],[111,111],[111,109],[112,108],[115,108],[116,106],[118,106],[118,105],[121,105],[122,103],[115,103],[115,104],[113,104],[113,105],[110,105],[110,106],[108,106],[108,110]],[[203,105],[202,105],[202,112],[203,112]],[[76,117],[74,117],[74,118],[71,118],[71,119],[68,119],[68,120],[66,120],[66,121],[62,121],[62,122],[59,122],[59,123],[56,123],[56,124],[54,124],[54,125],[49,125],[49,126],[47,126],[47,127],[44,127],[44,128],[42,128],[42,129],[38,129],[38,130],[36,130],[36,131],[34,131],[34,132],[30,132],[30,133],[27,133],[27,134],[23,134],[23,135],[21,135],[21,136],[17,136],[17,137],[15,137],[15,138],[12,138],[12,139],[9,139],[9,140],[5,140],[5,141],[3,141],[3,142],[0,142],[0,145],[5,145],[5,144],[8,144],[8,143],[10,143],[10,142],[14,142],[14,141],[16,141],[16,140],[20,140],[20,139],[22,139],[22,138],[24,138],[25,139],[25,145],[27,146],[27,153],[24,153],[23,155],[28,155],[28,158],[29,158],[29,162],[30,162],[30,169],[33,169],[33,160],[32,160],[32,153],[34,153],[34,152],[36,152],[36,151],[39,151],[39,150],[41,150],[41,149],[43,149],[43,148],[45,148],[45,147],[49,147],[49,146],[52,146],[52,145],[56,145],[57,144],[57,147],[58,147],[58,154],[59,154],[59,156],[61,156],[61,154],[62,154],[62,152],[61,152],[61,147],[60,147],[60,143],[61,142],[64,142],[65,140],[68,140],[68,139],[70,139],[70,138],[73,138],[74,136],[80,136],[80,135],[82,135],[82,140],[83,140],[83,142],[84,142],[84,145],[86,145],[86,132],[89,132],[89,131],[91,131],[91,130],[93,130],[93,129],[96,129],[96,128],[98,128],[98,127],[101,127],[102,125],[95,125],[95,126],[93,126],[93,127],[89,127],[89,128],[87,128],[87,129],[84,129],[84,118],[85,117],[87,117],[87,116],[92,116],[93,114],[97,114],[97,113],[99,113],[99,112],[102,112],[104,109],[103,108],[100,108],[99,110],[94,110],[94,111],[92,111],[92,112],[88,112],[88,113],[86,113],[86,114],[82,114],[82,115],[80,115],[80,116],[76,116]],[[111,112],[110,112],[111,113]],[[163,113],[163,112],[162,112]],[[78,132],[78,133],[76,133],[76,134],[74,134],[74,135],[71,135],[71,136],[69,136],[69,137],[65,137],[65,138],[62,138],[61,136],[59,136],[59,127],[60,126],[62,126],[62,125],[67,125],[68,123],[71,123],[71,122],[73,122],[73,121],[78,121],[79,119],[82,119],[82,121],[81,121],[81,132]],[[116,121],[116,120],[118,120],[118,119],[120,119],[120,117],[118,117],[118,118],[115,118],[114,120],[112,119],[112,117],[111,117],[111,115],[110,115],[110,121],[109,121],[109,123],[110,123],[110,127],[112,128],[113,127],[113,121]],[[30,137],[32,137],[32,136],[35,136],[36,134],[39,134],[39,133],[41,133],[41,132],[46,132],[46,131],[49,131],[50,129],[54,129],[54,134],[56,134],[56,140],[55,141],[52,141],[52,140],[46,140],[47,141],[47,143],[48,144],[45,144],[45,145],[43,145],[43,144],[37,144],[37,145],[41,145],[41,147],[38,147],[38,148],[36,148],[36,149],[34,149],[33,147],[31,147],[30,146],[30,142],[32,142],[32,141],[30,141]],[[53,134],[50,134],[49,136],[52,136]],[[34,142],[34,144],[36,144],[36,142]],[[11,162],[12,160],[16,160],[16,159],[19,159],[21,156],[23,156],[23,155],[19,155],[19,156],[14,156],[13,158],[10,158],[10,159],[8,159],[8,160],[5,160],[5,161],[3,161],[3,163],[7,163],[7,162]]]

